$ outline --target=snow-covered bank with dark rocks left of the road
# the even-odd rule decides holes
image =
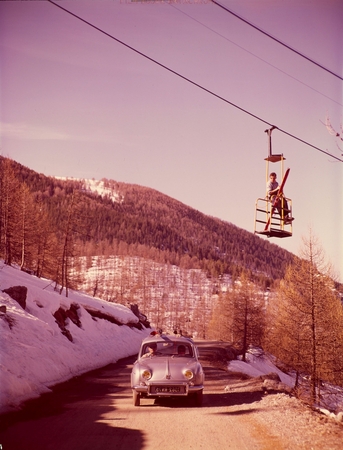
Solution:
[[[67,299],[49,280],[2,260],[0,306],[0,414],[57,383],[134,355],[151,331],[123,305],[82,292]]]

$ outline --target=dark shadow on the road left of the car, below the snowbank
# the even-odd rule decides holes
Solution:
[[[54,386],[29,400],[20,411],[0,416],[4,450],[140,450],[144,434],[125,428],[113,399],[127,390],[121,385],[132,358],[118,361]],[[116,377],[114,378],[114,373]],[[119,382],[118,382],[119,381]],[[104,419],[105,418],[105,419]]]

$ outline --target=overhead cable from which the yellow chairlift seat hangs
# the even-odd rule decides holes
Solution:
[[[205,88],[204,86],[202,86],[202,85],[196,83],[195,81],[191,80],[190,78],[185,77],[184,75],[180,74],[179,72],[177,72],[177,71],[171,69],[170,67],[168,67],[168,66],[166,66],[166,65],[164,65],[164,64],[162,64],[162,63],[160,63],[159,61],[157,61],[157,60],[151,58],[150,56],[148,56],[148,55],[146,55],[145,53],[143,53],[143,52],[137,50],[136,48],[132,47],[131,45],[126,44],[125,42],[121,41],[120,39],[116,38],[115,36],[113,36],[113,35],[107,33],[107,32],[104,31],[103,29],[101,29],[101,28],[97,27],[96,25],[92,24],[91,22],[89,22],[89,21],[83,19],[82,17],[78,16],[77,14],[74,14],[73,12],[71,12],[71,11],[69,11],[68,9],[64,8],[63,6],[61,6],[61,5],[59,5],[59,4],[55,3],[55,2],[53,2],[52,0],[46,0],[46,1],[49,2],[49,3],[51,3],[52,5],[56,6],[57,8],[60,8],[62,11],[64,11],[64,12],[70,14],[71,16],[75,17],[76,19],[80,20],[81,22],[83,22],[83,23],[89,25],[90,27],[92,27],[92,28],[94,28],[95,30],[99,31],[100,33],[104,34],[105,36],[108,36],[109,38],[111,38],[111,39],[113,39],[114,41],[118,42],[119,44],[123,45],[124,47],[126,47],[126,48],[128,48],[128,49],[134,51],[134,52],[137,53],[138,55],[143,56],[143,58],[146,58],[146,59],[148,59],[149,61],[153,62],[154,64],[156,64],[156,65],[162,67],[163,69],[167,70],[168,72],[173,73],[173,74],[176,75],[177,77],[182,78],[183,80],[187,81],[188,83],[193,84],[194,86],[196,86],[196,87],[198,87],[199,89],[201,89],[201,90],[207,92],[208,94],[213,95],[214,97],[218,98],[219,100],[222,100],[222,101],[224,101],[225,103],[228,103],[229,105],[231,105],[231,106],[233,106],[234,108],[236,108],[236,109],[238,109],[238,110],[244,112],[245,114],[248,114],[249,116],[255,118],[256,120],[259,120],[260,122],[263,122],[263,123],[265,123],[266,125],[268,125],[268,126],[270,126],[270,127],[272,127],[272,126],[275,127],[274,124],[272,124],[272,123],[270,123],[270,122],[268,122],[268,121],[262,119],[261,117],[257,116],[256,114],[251,113],[250,111],[248,111],[248,110],[246,110],[246,109],[244,109],[244,108],[242,108],[242,107],[236,105],[235,103],[230,102],[229,100],[227,100],[226,98],[222,97],[221,95],[216,94],[215,92],[213,92],[213,91],[211,91],[211,90]],[[281,133],[284,133],[284,134],[286,134],[287,136],[292,137],[293,139],[296,139],[297,141],[302,142],[303,144],[308,145],[309,147],[312,147],[312,148],[314,148],[315,150],[318,150],[319,152],[324,153],[324,154],[330,156],[331,158],[334,158],[334,159],[336,159],[336,160],[338,160],[338,161],[340,161],[340,162],[343,162],[343,159],[340,159],[340,158],[338,158],[337,156],[335,156],[335,155],[333,155],[333,154],[331,154],[331,153],[329,153],[329,152],[327,152],[327,151],[325,151],[325,150],[323,150],[323,149],[321,149],[321,148],[319,148],[319,147],[317,147],[317,146],[315,146],[315,145],[313,145],[313,144],[310,144],[309,142],[305,141],[304,139],[301,139],[301,138],[299,138],[299,137],[297,137],[297,136],[295,136],[295,135],[293,135],[293,134],[291,134],[291,133],[289,133],[289,132],[287,132],[287,131],[285,131],[285,130],[279,128],[279,127],[275,127],[275,128],[277,128]]]

